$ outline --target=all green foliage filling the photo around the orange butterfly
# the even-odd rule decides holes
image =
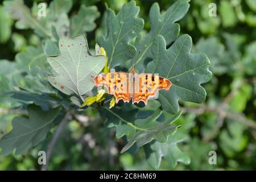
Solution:
[[[47,2],[0,5],[1,170],[40,169],[56,127],[49,170],[256,168],[254,1]],[[145,106],[93,88],[135,62],[170,90]]]

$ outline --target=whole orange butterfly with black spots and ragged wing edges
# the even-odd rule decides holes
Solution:
[[[131,69],[130,73],[112,72],[103,73],[94,77],[96,86],[105,86],[109,94],[115,96],[115,102],[139,103],[143,101],[147,105],[148,98],[155,98],[159,89],[169,90],[171,81],[150,73],[136,73]]]

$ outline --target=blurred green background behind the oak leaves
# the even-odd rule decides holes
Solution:
[[[34,3],[51,1],[24,1],[31,8]],[[98,35],[104,34],[105,3],[118,13],[125,0],[73,1],[68,15],[79,11],[81,5],[97,6],[100,11],[96,29],[87,33],[90,47]],[[139,16],[146,20],[155,1],[136,1],[141,8]],[[175,1],[157,1],[162,11]],[[180,133],[185,140],[178,143],[181,151],[191,158],[188,165],[178,163],[172,168],[163,160],[163,170],[255,170],[256,169],[256,1],[255,0],[192,0],[189,11],[180,24],[181,34],[193,39],[192,52],[206,53],[211,61],[213,77],[204,84],[207,100],[204,104],[181,103],[183,115],[177,123],[183,125]],[[209,3],[216,3],[217,16],[209,16]],[[0,5],[0,61],[13,61],[22,53],[42,44],[42,39],[31,28],[17,28]],[[16,56],[16,57],[15,57]],[[1,66],[4,64],[1,64]],[[0,67],[0,72],[11,76],[12,69]],[[20,83],[27,84],[27,83]],[[5,88],[0,88],[5,90]],[[139,150],[136,154],[119,154],[122,139],[115,139],[115,130],[105,128],[97,111],[86,109],[86,117],[77,115],[61,134],[48,169],[153,169]],[[11,130],[15,113],[0,104],[0,138]],[[79,122],[77,122],[79,121]],[[0,156],[0,170],[40,169],[38,151],[47,146],[48,138],[24,155]],[[217,164],[208,163],[209,151],[217,152]]]

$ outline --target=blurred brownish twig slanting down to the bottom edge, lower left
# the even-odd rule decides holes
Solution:
[[[60,122],[60,125],[57,127],[57,130],[55,131],[55,134],[53,135],[52,140],[47,147],[46,164],[42,166],[41,171],[47,170],[49,159],[51,158],[51,155],[52,155],[52,150],[55,147],[57,139],[60,137],[61,131],[63,130],[65,124],[71,119],[70,117],[71,117],[70,113],[67,112],[67,114],[65,115],[65,118]]]

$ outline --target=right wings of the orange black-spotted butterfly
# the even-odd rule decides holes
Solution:
[[[156,97],[159,89],[169,90],[172,83],[170,80],[155,76],[150,73],[134,74],[134,93],[132,97],[133,104],[143,101],[147,105],[148,98]],[[137,81],[136,81],[137,80]]]

